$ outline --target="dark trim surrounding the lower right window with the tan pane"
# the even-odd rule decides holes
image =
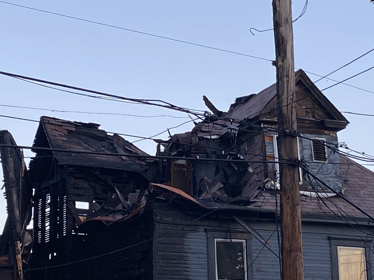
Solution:
[[[331,265],[332,265],[332,279],[339,280],[339,260],[338,260],[338,247],[355,247],[365,249],[365,267],[366,279],[371,279],[371,254],[370,246],[371,240],[368,239],[346,239],[330,237],[331,243]]]

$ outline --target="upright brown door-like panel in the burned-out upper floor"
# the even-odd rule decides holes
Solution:
[[[185,160],[178,160],[171,164],[171,186],[183,190],[192,196],[191,164]]]

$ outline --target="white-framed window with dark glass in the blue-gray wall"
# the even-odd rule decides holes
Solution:
[[[214,239],[215,279],[247,280],[245,239]]]

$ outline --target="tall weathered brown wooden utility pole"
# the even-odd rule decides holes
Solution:
[[[294,35],[291,0],[273,0],[276,54],[278,128],[297,130],[295,100]],[[279,133],[278,156],[298,159],[297,137]],[[282,160],[279,160],[282,161]],[[281,237],[283,280],[303,280],[299,172],[295,164],[280,164]]]

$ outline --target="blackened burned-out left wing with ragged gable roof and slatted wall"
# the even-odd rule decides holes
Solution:
[[[149,182],[156,180],[157,162],[132,158],[148,155],[98,127],[45,116],[40,119],[34,147],[111,155],[34,150],[36,158],[30,162],[30,181],[35,189],[32,267],[57,267],[31,271],[32,279],[89,279],[92,266],[65,264],[113,247],[102,242],[104,236],[95,237],[95,230],[88,234],[89,230],[82,231],[79,225],[96,221],[104,226],[143,211]],[[97,243],[92,243],[95,238]],[[129,265],[136,264],[130,261]]]

